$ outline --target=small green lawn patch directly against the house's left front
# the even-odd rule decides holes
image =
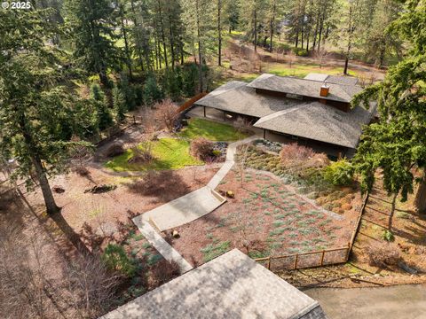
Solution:
[[[210,141],[237,141],[247,137],[231,125],[203,119],[191,119],[177,136],[187,139],[205,137]]]

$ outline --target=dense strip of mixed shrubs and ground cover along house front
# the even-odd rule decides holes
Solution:
[[[341,165],[343,162],[340,161],[329,164],[325,155],[312,150],[299,150],[300,146],[292,144],[280,150],[280,155],[264,152],[265,143],[261,141],[248,148],[247,167],[277,175],[284,183],[296,187],[298,192],[306,194],[329,211],[344,214],[345,211],[359,209],[361,199],[358,183],[351,179],[351,174],[349,177],[344,174],[344,178],[337,178],[342,175],[341,170],[334,168],[347,167],[346,162],[345,165]],[[273,144],[269,147],[275,148]],[[335,180],[344,183],[333,183]]]

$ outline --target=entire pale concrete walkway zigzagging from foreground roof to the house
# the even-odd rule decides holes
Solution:
[[[161,253],[167,261],[177,262],[181,273],[185,273],[193,267],[154,230],[151,224],[160,231],[170,230],[184,225],[185,223],[193,222],[193,220],[211,213],[218,206],[225,203],[226,199],[222,198],[214,190],[224,179],[225,175],[228,174],[233,164],[235,164],[234,156],[237,152],[237,147],[241,144],[249,143],[256,138],[258,137],[250,136],[241,141],[229,144],[224,165],[217,171],[216,175],[211,178],[207,186],[197,191],[192,191],[180,198],[173,199],[167,204],[133,218],[132,221],[138,227],[142,235],[146,237],[146,240],[153,245],[158,253]]]

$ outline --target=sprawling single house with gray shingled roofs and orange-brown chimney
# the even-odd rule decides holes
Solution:
[[[257,133],[272,141],[297,141],[330,155],[351,156],[363,125],[375,114],[373,103],[368,110],[351,107],[352,98],[362,90],[357,82],[327,74],[308,74],[304,79],[262,74],[250,83],[228,82],[194,105],[203,116],[216,110],[224,120],[245,117]]]

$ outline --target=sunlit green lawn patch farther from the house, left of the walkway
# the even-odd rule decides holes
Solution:
[[[122,155],[106,162],[105,166],[116,172],[139,171],[147,169],[178,169],[191,165],[202,165],[203,162],[193,158],[189,153],[189,141],[176,138],[161,138],[153,145],[154,160],[150,164],[129,163],[133,157],[131,149]]]

